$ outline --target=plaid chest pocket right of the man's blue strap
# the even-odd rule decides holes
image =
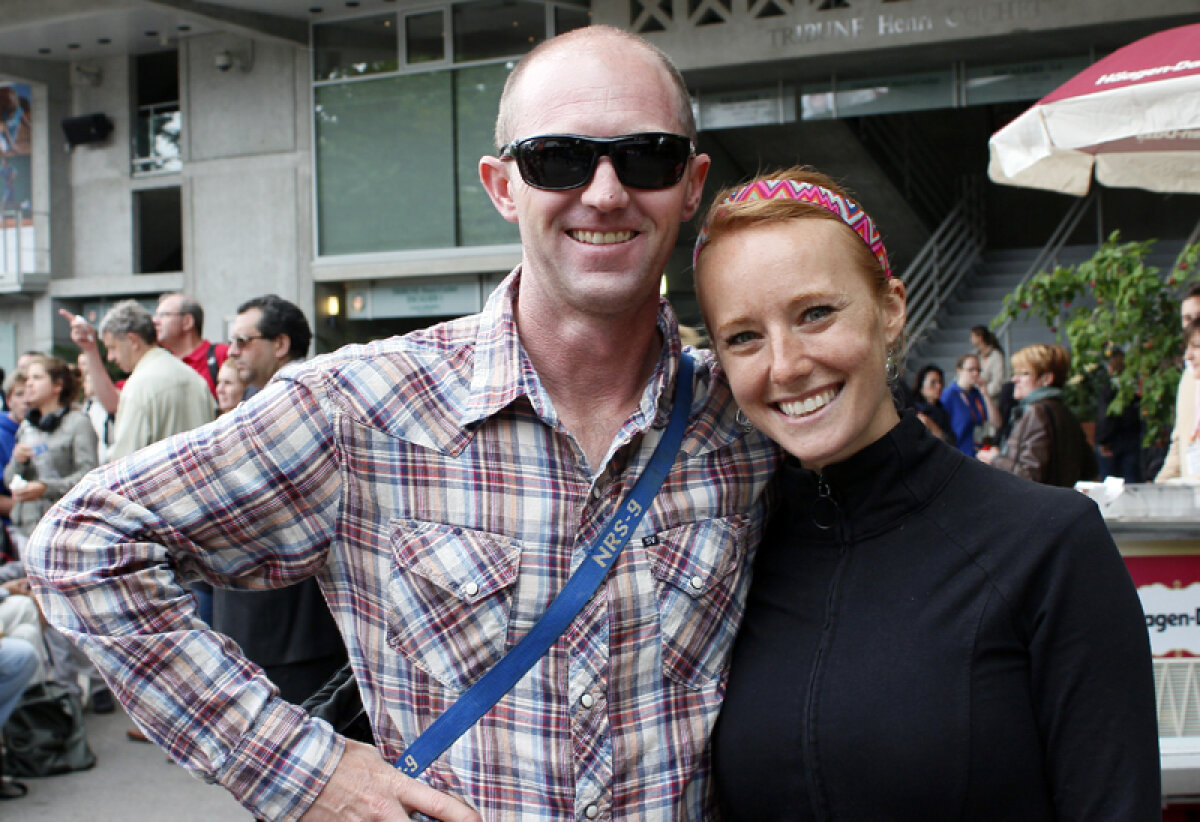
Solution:
[[[647,546],[659,598],[664,674],[689,688],[719,677],[745,611],[748,520],[707,520]]]

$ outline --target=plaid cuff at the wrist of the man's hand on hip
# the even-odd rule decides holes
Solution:
[[[298,820],[344,751],[346,739],[328,722],[275,698],[230,752],[217,781],[260,818]]]

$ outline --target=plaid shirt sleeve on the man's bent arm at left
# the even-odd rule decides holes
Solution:
[[[221,420],[89,474],[28,548],[47,617],[146,733],[269,820],[304,814],[344,740],[206,630],[181,577],[278,587],[313,576],[340,487],[329,416],[302,385],[276,380]]]

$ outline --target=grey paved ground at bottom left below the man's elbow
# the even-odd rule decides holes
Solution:
[[[130,742],[133,722],[121,710],[85,714],[96,767],[22,780],[29,794],[0,802],[4,822],[247,822],[251,815],[224,790],[205,785],[167,761],[154,745]]]

